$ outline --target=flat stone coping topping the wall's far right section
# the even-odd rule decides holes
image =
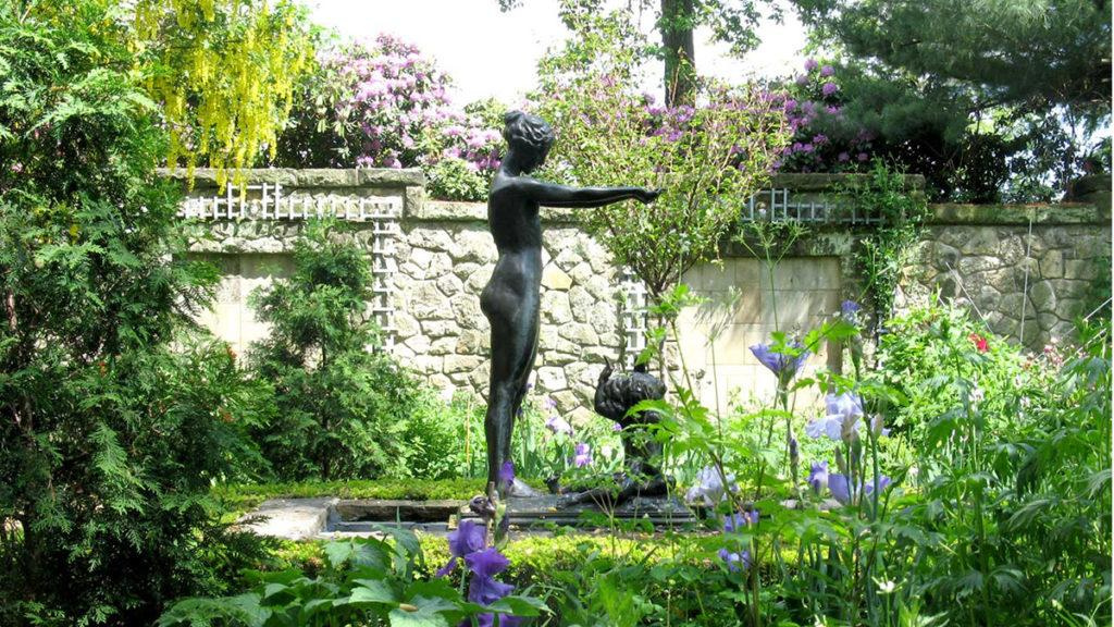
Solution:
[[[1058,204],[932,204],[929,224],[1105,224],[1111,208],[1089,203]]]

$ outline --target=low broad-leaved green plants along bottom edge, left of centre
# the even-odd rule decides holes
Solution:
[[[468,625],[486,610],[527,617],[543,609],[536,599],[521,596],[507,596],[485,607],[463,600],[461,589],[446,579],[420,580],[416,576],[426,568],[421,543],[408,531],[383,530],[390,540],[362,538],[324,544],[325,565],[316,576],[297,570],[248,571],[248,591],[180,600],[158,625],[448,627]]]

